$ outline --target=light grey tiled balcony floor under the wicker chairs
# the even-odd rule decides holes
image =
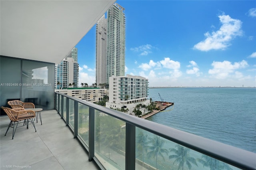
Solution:
[[[13,140],[12,128],[4,136],[10,119],[0,117],[0,170],[98,170],[57,111],[41,115],[36,132],[32,125],[18,127]]]

